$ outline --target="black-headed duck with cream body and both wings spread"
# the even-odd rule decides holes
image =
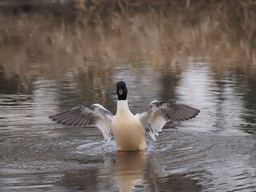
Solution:
[[[154,100],[140,114],[133,114],[128,106],[126,82],[116,84],[118,95],[117,111],[112,114],[104,106],[95,103],[90,106],[78,105],[59,114],[50,115],[55,122],[67,126],[96,126],[106,141],[112,136],[119,151],[146,150],[146,132],[156,141],[167,122],[185,121],[194,118],[200,110],[176,103]]]

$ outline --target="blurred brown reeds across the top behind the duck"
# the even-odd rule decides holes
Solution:
[[[21,91],[34,78],[105,77],[129,61],[179,74],[203,58],[219,75],[255,74],[255,21],[249,0],[0,1],[0,73]]]

